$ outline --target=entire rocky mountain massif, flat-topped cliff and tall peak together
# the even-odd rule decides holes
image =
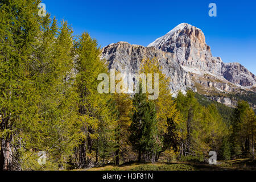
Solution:
[[[229,106],[236,105],[230,93],[254,92],[256,77],[239,63],[224,63],[213,57],[205,43],[203,31],[181,23],[147,47],[127,42],[110,44],[102,49],[102,59],[109,69],[136,73],[143,59],[157,59],[162,72],[171,78],[170,88],[175,94],[191,88],[199,94]],[[255,103],[256,105],[256,103]]]

